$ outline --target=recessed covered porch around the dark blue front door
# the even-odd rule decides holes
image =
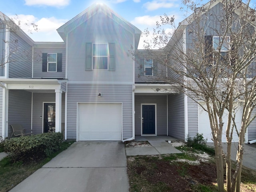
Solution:
[[[176,86],[135,84],[134,109],[135,139],[171,136],[185,140],[185,99]]]

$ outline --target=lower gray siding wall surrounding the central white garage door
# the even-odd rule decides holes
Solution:
[[[102,93],[102,97],[97,97],[98,92]],[[132,137],[132,85],[68,84],[68,139],[76,139],[78,102],[121,102],[123,138]]]

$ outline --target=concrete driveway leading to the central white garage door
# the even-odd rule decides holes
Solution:
[[[75,142],[10,192],[128,192],[122,142]]]

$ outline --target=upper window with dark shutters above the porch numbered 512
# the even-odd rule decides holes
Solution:
[[[62,72],[62,53],[43,53],[42,71]]]

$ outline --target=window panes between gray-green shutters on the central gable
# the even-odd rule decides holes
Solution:
[[[108,70],[108,44],[93,44],[93,69]]]

